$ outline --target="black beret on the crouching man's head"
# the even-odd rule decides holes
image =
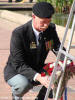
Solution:
[[[33,13],[40,18],[51,18],[54,14],[54,7],[47,2],[36,3],[32,8]]]

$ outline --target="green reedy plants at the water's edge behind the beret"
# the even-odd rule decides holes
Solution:
[[[55,7],[56,12],[59,13],[69,13],[73,3],[73,0],[37,0],[37,2],[42,1],[51,3]]]

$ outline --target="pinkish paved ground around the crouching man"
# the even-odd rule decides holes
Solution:
[[[19,25],[16,23],[0,18],[0,100],[12,100],[11,89],[4,81],[3,70],[9,55],[11,32],[17,26]],[[72,54],[75,55],[75,50],[72,51]],[[55,56],[50,52],[46,62],[54,60]],[[73,89],[75,88],[75,77],[69,81],[68,85],[73,87]],[[34,100],[37,94],[37,91],[30,90],[24,95],[23,100]],[[75,100],[74,92],[68,93],[68,100]]]

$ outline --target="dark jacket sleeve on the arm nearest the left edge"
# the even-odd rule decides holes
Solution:
[[[12,65],[15,70],[21,72],[24,75],[27,75],[27,77],[33,79],[34,75],[36,74],[36,71],[31,68],[31,66],[27,65],[24,58],[24,48],[23,48],[23,42],[22,37],[19,34],[18,31],[13,31],[12,37],[11,37],[11,43],[10,43],[10,53],[11,53],[11,59],[12,59]],[[29,75],[27,74],[29,73]]]

